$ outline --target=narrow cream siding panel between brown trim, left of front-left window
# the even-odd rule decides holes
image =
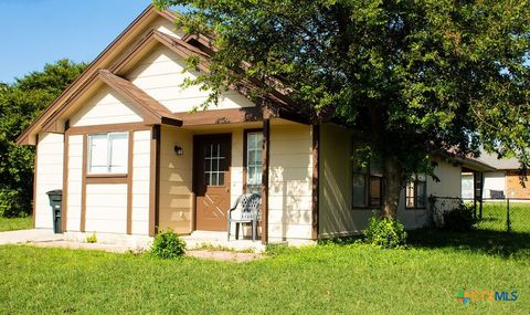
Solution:
[[[83,136],[68,136],[68,189],[66,230],[80,231]]]

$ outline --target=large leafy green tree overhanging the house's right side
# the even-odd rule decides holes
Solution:
[[[368,139],[386,216],[433,156],[484,147],[530,161],[527,0],[153,2],[180,6],[178,27],[214,39],[210,73],[191,83],[216,96],[242,78],[282,82],[300,112]]]

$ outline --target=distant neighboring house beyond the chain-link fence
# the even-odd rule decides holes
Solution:
[[[483,153],[477,161],[488,165],[491,170],[484,171],[483,198],[530,198],[530,187],[520,181],[520,164],[517,158],[498,159],[496,155]],[[473,174],[462,174],[462,196],[473,198]]]

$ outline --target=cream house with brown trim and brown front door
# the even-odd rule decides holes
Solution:
[[[67,233],[226,231],[230,204],[248,191],[262,195],[265,243],[363,229],[382,177],[377,164],[353,167],[353,134],[311,125],[279,94],[254,104],[229,91],[190,113],[208,92],[180,86],[199,74],[183,60],[204,70],[212,50],[172,31],[174,19],[146,9],[21,135],[36,147],[34,227],[52,228],[46,191],[63,189]],[[439,182],[417,175],[403,190],[407,228],[426,223],[428,196],[460,196],[462,164],[439,160],[435,174]]]

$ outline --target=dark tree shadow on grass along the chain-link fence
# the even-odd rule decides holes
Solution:
[[[471,230],[452,232],[437,229],[409,231],[407,244],[416,249],[448,249],[489,255],[530,259],[530,233]]]

